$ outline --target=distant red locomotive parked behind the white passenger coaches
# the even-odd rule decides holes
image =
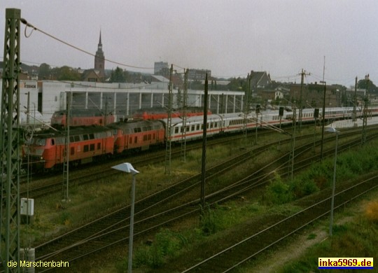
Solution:
[[[172,118],[180,118],[183,116],[183,109],[174,109],[172,111]],[[207,112],[208,115],[211,115],[211,111],[209,110]],[[186,116],[192,117],[192,116],[203,116],[204,115],[204,109],[200,107],[188,107],[186,109]],[[133,118],[135,120],[162,120],[164,118],[168,118],[167,109],[164,109],[162,107],[158,108],[150,108],[150,109],[139,109],[137,110]]]

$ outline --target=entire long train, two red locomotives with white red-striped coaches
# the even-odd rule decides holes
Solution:
[[[320,113],[319,113],[320,112]],[[330,108],[325,111],[325,120],[349,119],[353,108]],[[298,115],[298,113],[297,113]],[[370,116],[378,116],[378,108],[369,109]],[[317,117],[318,116],[318,117]],[[358,111],[357,116],[362,116]],[[314,123],[322,119],[318,109],[303,109],[302,123]],[[256,113],[225,113],[207,116],[207,136],[244,132],[256,127],[290,125],[293,112],[263,111]],[[106,126],[73,127],[69,135],[69,163],[80,165],[113,155],[145,151],[162,146],[166,141],[179,142],[202,138],[204,117],[188,116],[172,118],[170,132],[167,118],[158,120],[125,120]],[[47,171],[62,167],[66,150],[64,130],[45,130],[33,135],[23,146],[24,160],[34,170]]]

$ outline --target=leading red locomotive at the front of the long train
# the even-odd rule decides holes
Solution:
[[[41,131],[24,146],[23,154],[29,157],[33,169],[47,170],[64,163],[65,137],[61,132]],[[87,127],[70,131],[69,162],[71,165],[92,162],[92,160],[113,154],[114,137],[109,128]]]

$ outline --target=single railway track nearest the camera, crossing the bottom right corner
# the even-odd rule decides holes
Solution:
[[[343,207],[344,204],[364,195],[365,193],[378,187],[378,176],[374,175],[358,184],[354,184],[338,190],[335,194],[335,209]],[[330,193],[324,194],[322,200],[305,207],[301,211],[277,221],[273,225],[255,232],[241,241],[214,253],[195,265],[182,268],[180,272],[230,272],[242,265],[244,262],[251,260],[256,255],[265,251],[267,248],[278,244],[286,237],[301,230],[314,221],[327,216],[330,212]],[[169,268],[162,269],[164,272]],[[161,269],[155,272],[163,272]],[[177,268],[175,268],[177,271]]]

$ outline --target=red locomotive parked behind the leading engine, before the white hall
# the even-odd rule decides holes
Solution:
[[[97,109],[71,109],[71,126],[90,126],[114,123],[114,116],[106,116]],[[57,111],[52,115],[51,126],[55,128],[66,126],[66,110]]]

